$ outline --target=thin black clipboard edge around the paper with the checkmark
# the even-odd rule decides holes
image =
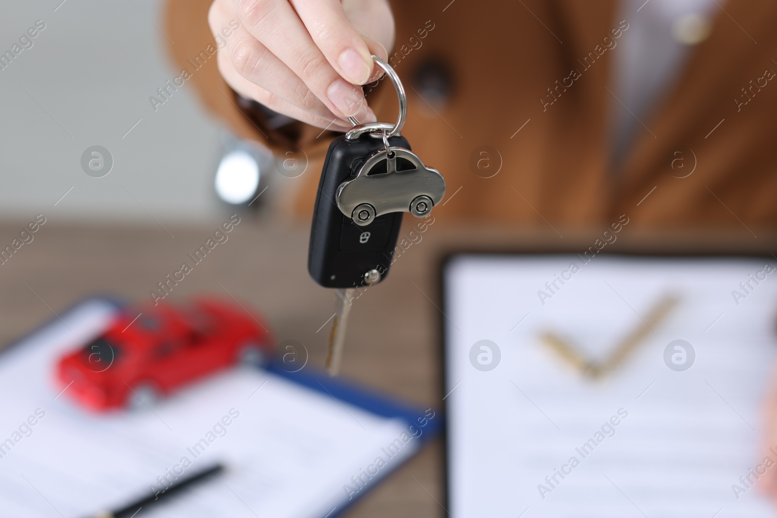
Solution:
[[[678,250],[680,247],[676,246],[667,246],[667,249],[665,250],[657,250],[657,246],[650,246],[650,249],[652,249],[650,252],[640,252],[639,249],[621,249],[620,247],[612,247],[612,249],[608,252],[600,251],[597,253],[598,255],[603,255],[606,257],[632,257],[632,258],[640,258],[640,259],[766,259],[766,260],[775,260],[777,259],[777,256],[773,255],[771,252],[764,252],[764,249],[766,249],[766,246],[758,246],[754,249],[744,249],[741,252],[737,252],[736,249],[732,250],[732,247],[723,245],[723,243],[717,244],[717,245],[702,245],[699,247],[701,251],[696,252],[688,252],[685,250]],[[647,247],[645,247],[647,248]],[[580,249],[568,249],[568,248],[559,248],[559,249],[518,249],[518,248],[504,248],[504,249],[497,249],[497,248],[462,248],[462,249],[451,249],[447,252],[444,252],[441,256],[441,258],[438,260],[438,268],[437,268],[437,301],[439,301],[439,305],[441,308],[441,311],[439,311],[439,315],[437,315],[437,332],[439,339],[437,340],[437,357],[440,360],[440,366],[441,366],[441,372],[440,372],[440,394],[441,398],[446,396],[446,389],[448,388],[448,370],[446,368],[446,356],[445,356],[445,342],[446,342],[446,335],[445,335],[445,313],[447,312],[447,308],[445,307],[445,277],[446,273],[448,271],[448,266],[450,266],[450,263],[453,259],[456,259],[461,256],[490,256],[490,257],[519,257],[519,256],[570,256],[570,255],[579,255]],[[777,262],[777,261],[775,261]],[[450,499],[450,472],[449,472],[449,464],[448,464],[448,456],[449,456],[449,449],[450,449],[450,443],[448,442],[448,426],[450,426],[450,422],[448,421],[448,401],[442,401],[441,402],[441,408],[443,409],[443,429],[440,431],[440,438],[443,443],[443,458],[442,458],[442,478],[443,478],[443,502],[444,505],[444,512],[441,516],[444,516],[448,518],[448,516],[452,516],[451,513],[448,511],[451,507],[451,499]]]

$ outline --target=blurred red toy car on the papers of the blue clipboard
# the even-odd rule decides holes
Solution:
[[[138,316],[138,313],[141,313]],[[57,363],[66,394],[92,410],[140,407],[235,363],[273,354],[270,333],[241,307],[200,299],[125,310],[92,342]]]

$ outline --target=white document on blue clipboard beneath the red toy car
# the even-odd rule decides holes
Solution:
[[[186,477],[216,463],[225,464],[220,478],[144,516],[323,518],[364,493],[354,477],[375,483],[419,446],[412,435],[395,443],[406,437],[401,419],[250,368],[185,388],[153,412],[86,412],[57,395],[54,363],[112,314],[87,302],[0,355],[0,441],[11,440],[0,443],[2,518],[92,516],[164,488],[158,477],[171,471]]]

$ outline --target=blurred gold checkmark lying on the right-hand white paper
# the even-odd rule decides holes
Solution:
[[[543,332],[540,335],[540,339],[545,346],[556,352],[580,374],[591,379],[601,379],[608,374],[612,374],[622,363],[625,363],[625,360],[632,356],[634,351],[645,342],[646,336],[650,332],[656,332],[656,326],[669,315],[678,302],[679,297],[672,294],[661,297],[656,304],[653,304],[653,308],[650,308],[646,318],[640,317],[641,322],[639,322],[636,328],[625,335],[618,342],[618,345],[612,349],[609,356],[603,360],[594,360],[585,356],[580,348],[555,332]]]

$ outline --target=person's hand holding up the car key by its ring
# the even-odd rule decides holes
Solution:
[[[382,74],[370,55],[393,46],[388,0],[214,0],[214,35],[235,21],[217,56],[235,92],[330,130],[350,129],[348,116],[375,121],[358,85]]]

